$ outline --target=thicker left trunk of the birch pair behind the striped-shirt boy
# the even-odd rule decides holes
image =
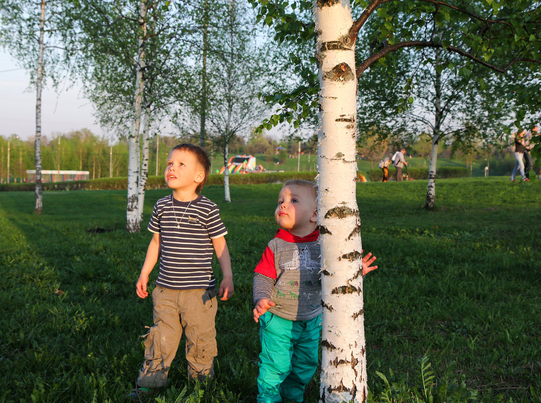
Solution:
[[[131,133],[128,136],[128,203],[126,208],[126,229],[129,233],[140,231],[139,203],[138,203],[138,184],[139,184],[139,131],[141,126],[141,104],[144,91],[144,40],[146,38],[146,20],[147,14],[146,1],[142,0],[140,4],[139,23],[141,24],[141,34],[139,36],[139,48],[137,50],[137,75],[134,94],[134,120],[131,125]]]

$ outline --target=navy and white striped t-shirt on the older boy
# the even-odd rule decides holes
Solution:
[[[212,240],[226,235],[227,230],[215,203],[201,195],[190,203],[175,200],[173,195],[162,197],[154,206],[148,230],[161,234],[162,240],[157,286],[216,286],[211,266]]]

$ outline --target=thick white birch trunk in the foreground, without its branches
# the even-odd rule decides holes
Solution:
[[[348,0],[316,0],[320,64],[318,220],[321,243],[320,401],[366,401],[360,219],[355,197],[357,80]]]

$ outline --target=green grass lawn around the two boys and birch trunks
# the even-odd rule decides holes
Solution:
[[[279,189],[232,186],[232,203],[222,187],[203,190],[228,228],[235,281],[216,318],[216,378],[188,385],[181,342],[153,401],[255,402],[252,271],[276,230]],[[358,184],[362,245],[379,265],[364,285],[369,400],[423,401],[411,393],[426,355],[434,402],[541,402],[541,181],[438,180],[434,212],[425,192],[426,181]],[[168,193],[147,191],[144,225]],[[0,403],[124,401],[152,324],[150,299],[135,294],[150,233],[124,232],[125,191],[43,201],[35,216],[33,193],[0,193]]]

